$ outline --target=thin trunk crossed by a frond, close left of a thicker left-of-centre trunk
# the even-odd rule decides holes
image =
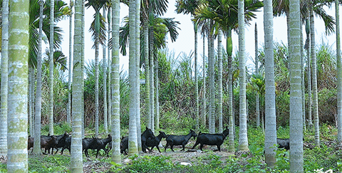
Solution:
[[[112,19],[112,11],[111,11],[111,8],[113,7],[110,7],[108,9],[108,41],[110,40],[110,38],[112,38],[111,36],[111,33],[112,33],[112,30],[111,30],[111,21],[113,20]],[[112,40],[113,41],[113,40]],[[107,95],[108,95],[108,128],[111,128],[112,127],[112,90],[110,89],[111,88],[111,75],[110,73],[112,73],[112,68],[111,68],[111,65],[112,65],[112,61],[110,60],[110,58],[112,55],[112,50],[110,50],[110,48],[108,48],[108,92],[107,92]],[[113,137],[113,135],[112,135]]]

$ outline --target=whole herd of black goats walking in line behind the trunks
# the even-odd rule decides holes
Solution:
[[[146,149],[151,152],[154,147],[157,147],[157,150],[160,152],[159,144],[162,138],[166,139],[165,145],[165,152],[167,147],[170,146],[172,152],[174,146],[182,145],[182,150],[185,150],[185,145],[190,140],[191,137],[197,137],[195,145],[192,147],[192,150],[195,149],[197,145],[199,145],[199,149],[202,150],[204,145],[216,145],[217,150],[221,152],[221,145],[224,142],[224,139],[229,135],[229,129],[226,129],[222,133],[217,134],[209,134],[209,133],[202,133],[199,132],[197,135],[194,130],[190,130],[190,133],[187,135],[166,135],[165,132],[159,131],[159,135],[155,136],[149,128],[146,127],[146,130],[142,132],[141,135],[141,145],[142,145],[142,152],[146,152]],[[27,150],[30,150],[33,147],[33,137],[28,137],[28,146]],[[100,150],[104,150],[105,154],[108,155],[108,152],[111,150],[111,141],[112,137],[108,135],[107,138],[100,139],[98,137],[86,137],[82,140],[82,148],[86,157],[89,157],[88,150],[96,150],[96,157],[98,157],[98,152]],[[108,145],[109,143],[109,145]],[[277,143],[279,148],[284,148],[289,150],[289,139],[277,139]],[[106,148],[108,145],[108,148]],[[149,148],[151,147],[151,149]],[[41,148],[45,149],[43,154],[53,154],[53,149],[56,149],[55,154],[58,152],[58,148],[62,148],[61,154],[65,149],[68,149],[69,152],[71,150],[71,136],[65,132],[63,135],[41,135]],[[122,154],[127,154],[128,150],[128,137],[122,137],[120,143],[120,152]],[[216,151],[217,151],[216,150]],[[47,152],[47,153],[46,153]]]

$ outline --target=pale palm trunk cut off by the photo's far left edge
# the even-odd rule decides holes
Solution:
[[[0,114],[0,156],[7,156],[7,93],[9,61],[9,1],[2,1],[1,33],[1,114]]]

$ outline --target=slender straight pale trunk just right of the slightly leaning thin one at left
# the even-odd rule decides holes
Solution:
[[[50,103],[48,105],[48,132],[50,135],[53,135],[53,27],[55,26],[54,24],[54,6],[55,6],[55,1],[51,0],[50,1],[50,54],[49,54],[49,90],[50,90]]]

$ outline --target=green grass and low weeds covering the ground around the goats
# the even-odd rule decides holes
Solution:
[[[44,128],[43,128],[44,129]],[[63,132],[64,130],[60,130]],[[167,130],[165,130],[167,131]],[[185,133],[185,131],[183,130]],[[239,128],[235,136],[235,147],[238,145]],[[304,147],[304,172],[316,172],[317,169],[324,171],[332,169],[333,172],[342,171],[342,150],[336,145],[336,127],[321,125],[321,147],[313,149]],[[289,137],[289,127],[278,127],[278,137]],[[191,160],[192,166],[181,165],[175,162],[176,158],[167,155],[147,154],[144,156],[123,156],[123,159],[132,159],[130,164],[115,164],[110,157],[104,157],[100,152],[99,159],[95,159],[95,151],[90,152],[90,159],[83,157],[83,162],[95,164],[105,163],[107,166],[100,172],[289,172],[289,151],[277,150],[276,167],[269,169],[264,163],[264,134],[262,130],[249,127],[249,154],[236,156],[222,156],[219,152],[205,150],[203,154]],[[306,143],[314,144],[314,131],[304,132]],[[227,148],[228,140],[224,142],[223,148]],[[94,165],[95,165],[94,164]],[[70,155],[29,155],[29,172],[69,172]],[[93,169],[93,171],[91,171]],[[90,172],[98,171],[96,167],[90,168]],[[0,163],[0,172],[6,172],[6,164]]]

